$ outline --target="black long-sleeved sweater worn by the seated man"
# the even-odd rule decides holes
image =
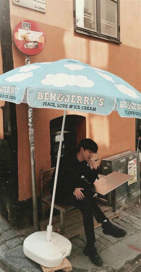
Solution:
[[[55,171],[51,177],[50,190],[51,195],[53,193]],[[56,187],[56,199],[65,200],[70,195],[73,194],[75,188],[88,189],[90,184],[93,184],[98,177],[99,169],[91,170],[87,166],[86,161],[79,162],[77,155],[71,157],[64,156],[60,159],[58,177],[57,177],[57,187]],[[87,180],[84,180],[84,178]]]

